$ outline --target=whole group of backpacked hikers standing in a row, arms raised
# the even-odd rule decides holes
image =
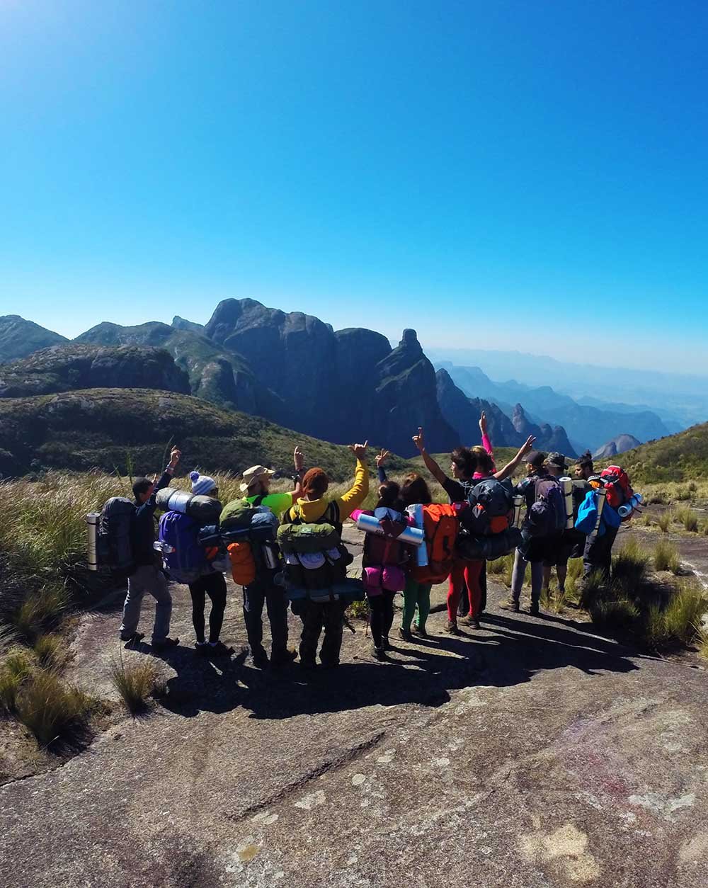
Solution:
[[[592,527],[586,521],[582,530],[577,529],[581,526],[578,514],[593,498],[588,494],[603,486],[594,472],[590,453],[580,456],[574,465],[572,521],[566,523],[564,512],[562,524],[551,521],[542,532],[535,532],[538,515],[546,520],[545,512],[553,511],[550,507],[562,494],[558,479],[569,482],[569,464],[560,453],[545,454],[535,449],[535,439],[529,437],[513,459],[497,470],[484,413],[480,432],[481,445],[452,451],[448,473],[427,452],[423,429],[413,436],[426,471],[441,485],[449,500],[445,504],[434,503],[426,478],[418,472],[409,472],[401,482],[389,479],[386,461],[390,455],[382,449],[375,457],[377,501],[369,510],[362,509],[370,489],[368,442],[350,447],[356,459],[354,483],[344,494],[330,496],[327,472],[320,467],[306,470],[305,455],[295,448],[292,490],[271,492],[271,480],[276,473],[265,465],[255,465],[243,472],[243,498],[223,509],[217,482],[208,475],[189,474],[191,496],[170,488],[181,456],[179,449],[173,448],[170,463],[159,480],[139,478],[132,485],[131,566],[126,571],[128,591],[120,638],[127,644],[144,638],[138,624],[142,599],[148,592],[156,602],[153,648],[161,651],[178,645],[179,639],[170,637],[172,599],[167,573],[188,584],[196,653],[230,653],[220,640],[227,607],[224,573],[229,567],[235,582],[243,586],[243,619],[253,665],[260,669],[268,665],[281,667],[294,661],[298,654],[304,669],[314,669],[322,630],[319,660],[322,667],[337,666],[343,627],[348,622],[346,608],[353,596],[366,597],[372,654],[386,660],[396,594],[402,592],[400,638],[406,642],[414,641],[414,635],[426,638],[432,585],[443,578],[448,581],[445,630],[458,635],[461,625],[479,629],[487,606],[487,562],[483,556],[488,550],[481,537],[472,537],[472,548],[465,549],[459,543],[460,535],[465,535],[465,515],[486,522],[482,533],[494,534],[495,527],[502,527],[515,543],[511,595],[501,605],[507,610],[519,612],[521,608],[521,590],[529,565],[529,613],[534,615],[540,613],[541,593],[549,586],[553,568],[559,591],[563,591],[570,558],[584,559],[585,577],[601,571],[609,578],[618,521],[608,519],[598,532],[600,515],[595,521],[593,512]],[[522,462],[526,464],[526,476],[514,484],[512,476]],[[513,496],[514,509],[521,508],[521,503],[526,507],[524,519],[516,521],[518,529],[513,529],[511,499],[494,511],[494,496],[498,497],[500,492]],[[569,502],[569,493],[567,497]],[[204,519],[194,517],[195,510],[205,509],[210,503],[216,511],[206,522],[210,526],[204,527]],[[155,512],[160,509],[166,511],[156,539]],[[507,514],[500,513],[505,510]],[[423,513],[425,524],[420,520],[414,526],[412,516]],[[346,566],[352,560],[341,542],[346,519],[353,519],[366,529],[367,520],[369,524],[374,522],[375,532],[364,535],[361,580],[346,577]],[[187,526],[202,559],[195,567],[190,565],[188,572],[183,554],[185,543],[181,542]],[[466,526],[470,527],[469,521]],[[418,549],[410,540],[418,544]],[[481,548],[475,549],[478,543]],[[438,545],[449,546],[445,559],[436,554]],[[420,551],[425,554],[421,556]],[[178,557],[181,560],[175,560]],[[207,598],[211,600],[208,632],[204,614]],[[263,643],[264,606],[270,624],[270,655]],[[288,646],[288,607],[302,621],[298,652]]]

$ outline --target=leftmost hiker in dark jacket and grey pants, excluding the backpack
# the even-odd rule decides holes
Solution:
[[[172,597],[167,588],[167,578],[158,567],[155,552],[155,508],[157,492],[166,488],[179,463],[181,456],[177,448],[172,448],[170,463],[160,480],[138,478],[133,481],[132,493],[135,497],[130,516],[130,547],[132,567],[128,575],[128,594],[123,604],[123,622],[120,638],[136,644],[145,638],[138,631],[142,599],[146,592],[155,599],[155,625],[153,627],[153,650],[161,651],[179,644],[179,638],[170,638]]]

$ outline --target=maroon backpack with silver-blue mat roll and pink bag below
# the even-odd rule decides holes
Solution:
[[[384,591],[402,592],[406,586],[404,568],[411,558],[411,547],[403,542],[402,536],[410,535],[411,530],[418,533],[417,528],[410,527],[408,515],[385,507],[362,512],[360,517],[365,524],[368,519],[378,523],[378,532],[364,535],[362,580],[366,594],[376,598]]]

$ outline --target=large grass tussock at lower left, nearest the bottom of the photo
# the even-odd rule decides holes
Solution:
[[[88,694],[65,684],[56,673],[36,670],[20,688],[16,711],[20,722],[45,747],[78,739],[94,706]]]

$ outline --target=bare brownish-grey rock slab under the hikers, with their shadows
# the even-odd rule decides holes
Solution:
[[[708,690],[690,662],[500,611],[489,583],[481,631],[449,637],[437,612],[382,663],[357,621],[338,670],[261,672],[231,592],[235,656],[195,658],[175,587],[163,704],[0,789],[0,884],[708,883]],[[86,615],[72,665],[113,699],[115,659],[150,655],[119,646],[119,620],[118,599]]]

